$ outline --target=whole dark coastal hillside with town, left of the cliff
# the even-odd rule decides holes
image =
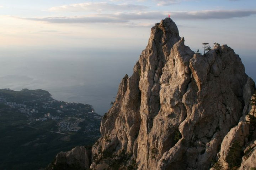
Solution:
[[[61,151],[91,146],[101,118],[89,104],[57,101],[48,91],[0,89],[0,169],[40,169]]]

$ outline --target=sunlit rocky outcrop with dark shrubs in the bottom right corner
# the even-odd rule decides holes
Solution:
[[[223,169],[256,169],[255,97],[252,97],[250,112],[242,115],[238,125],[232,128],[222,141],[217,164]]]

